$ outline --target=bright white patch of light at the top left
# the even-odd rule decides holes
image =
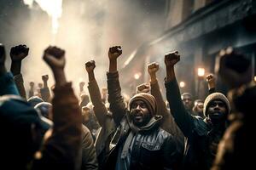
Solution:
[[[62,14],[62,0],[23,0],[30,7],[35,1],[51,17],[52,33],[55,35],[59,28],[59,19]]]

